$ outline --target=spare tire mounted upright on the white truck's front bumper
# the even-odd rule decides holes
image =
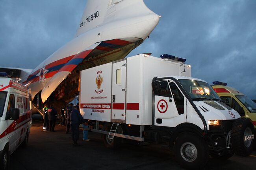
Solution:
[[[245,136],[254,134],[252,121],[245,117],[238,118],[232,125],[231,143],[235,154],[239,156],[248,156],[252,153],[254,141],[244,141]]]

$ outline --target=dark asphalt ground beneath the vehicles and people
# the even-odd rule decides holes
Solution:
[[[123,144],[117,150],[104,146],[99,133],[89,132],[91,141],[72,146],[71,133],[56,125],[56,132],[43,131],[42,118],[33,116],[28,146],[11,155],[11,170],[183,170],[174,154],[159,145]],[[256,152],[249,157],[234,155],[226,161],[210,158],[206,170],[255,170]]]

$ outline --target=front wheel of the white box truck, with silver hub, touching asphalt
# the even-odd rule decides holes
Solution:
[[[174,152],[178,163],[189,170],[204,168],[209,159],[206,142],[193,133],[179,135],[174,144]]]

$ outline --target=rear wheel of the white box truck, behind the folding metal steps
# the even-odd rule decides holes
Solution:
[[[108,126],[104,127],[105,131],[108,131],[108,132],[110,131],[110,128],[111,128],[110,124],[108,124]],[[117,133],[120,133],[120,131],[121,131],[120,128],[121,128],[121,126],[119,126],[117,128]],[[103,141],[104,141],[104,145],[110,149],[118,148],[121,144],[120,137],[114,137],[113,139],[108,139],[108,135],[106,135],[106,134],[103,135]]]

